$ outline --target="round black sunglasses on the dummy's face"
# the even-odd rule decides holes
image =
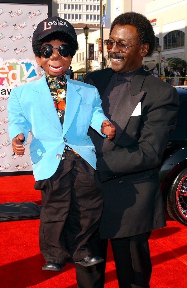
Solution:
[[[59,48],[53,48],[51,44],[45,44],[40,51],[41,56],[44,58],[50,58],[53,55],[53,50],[56,49],[62,57],[68,57],[70,55],[70,47],[67,44],[61,44]]]

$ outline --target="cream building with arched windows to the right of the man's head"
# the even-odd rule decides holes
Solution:
[[[160,63],[162,74],[167,66],[175,67],[179,72],[182,70],[187,62],[186,11],[186,0],[155,0],[146,4],[145,16],[151,21],[156,36],[156,51],[153,57],[144,58],[144,64],[149,70],[156,63]],[[158,44],[161,46],[160,55],[157,52]]]

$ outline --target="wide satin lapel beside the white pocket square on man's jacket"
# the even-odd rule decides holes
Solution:
[[[111,151],[117,143],[132,115],[132,112],[145,93],[145,91],[140,92],[144,79],[145,75],[136,75],[130,86],[125,90],[125,94],[117,103],[111,116],[111,122],[116,126],[116,135],[112,141],[108,140],[107,137],[104,139],[102,152]]]

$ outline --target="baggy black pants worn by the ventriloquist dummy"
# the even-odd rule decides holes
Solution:
[[[92,253],[88,241],[103,210],[97,171],[81,156],[66,151],[55,174],[37,181],[35,189],[41,190],[39,243],[46,262],[65,265],[69,258],[75,262]]]

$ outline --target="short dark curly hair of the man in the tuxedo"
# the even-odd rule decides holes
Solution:
[[[136,28],[138,39],[141,44],[148,43],[149,50],[146,57],[151,57],[155,50],[155,33],[151,22],[142,14],[136,12],[127,12],[117,16],[111,24],[110,34],[115,25],[132,25]],[[109,35],[110,35],[109,34]]]

